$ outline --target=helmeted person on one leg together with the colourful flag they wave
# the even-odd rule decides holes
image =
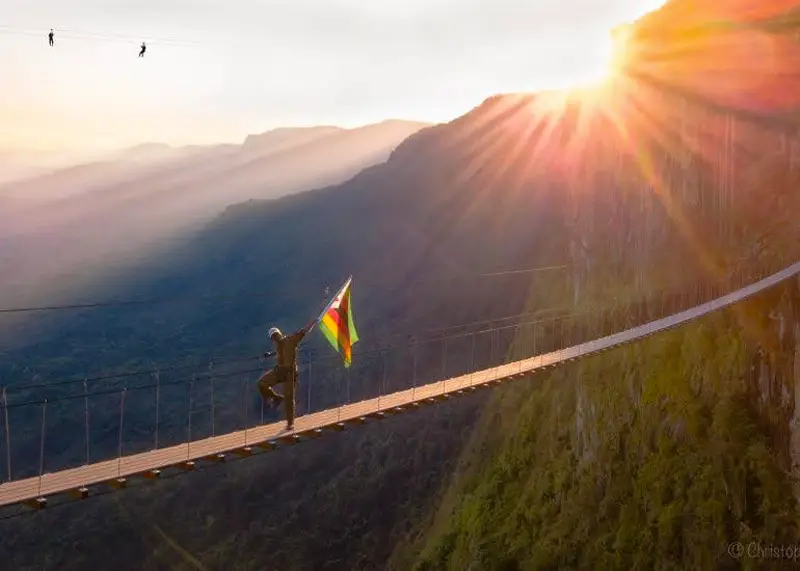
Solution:
[[[277,327],[270,327],[269,329],[268,335],[275,349],[264,353],[264,356],[277,357],[277,363],[275,367],[258,379],[258,391],[261,393],[261,397],[274,407],[280,406],[281,401],[283,401],[286,411],[286,430],[294,428],[294,397],[298,381],[297,348],[309,331],[319,324],[320,330],[328,339],[328,342],[342,353],[344,366],[350,367],[352,347],[358,341],[350,304],[350,284],[352,279],[351,277],[345,282],[342,289],[325,306],[319,317],[302,329],[298,329],[288,336],[284,335]],[[327,288],[325,293],[327,299]],[[283,395],[276,393],[272,388],[281,383],[284,385]]]

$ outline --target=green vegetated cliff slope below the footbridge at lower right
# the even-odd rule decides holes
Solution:
[[[732,542],[796,544],[797,286],[498,390],[416,568],[711,569]]]

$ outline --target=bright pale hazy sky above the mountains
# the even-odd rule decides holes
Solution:
[[[4,0],[0,147],[221,142],[286,125],[446,121],[494,93],[591,75],[609,28],[661,3]],[[99,35],[116,39],[88,38]]]

